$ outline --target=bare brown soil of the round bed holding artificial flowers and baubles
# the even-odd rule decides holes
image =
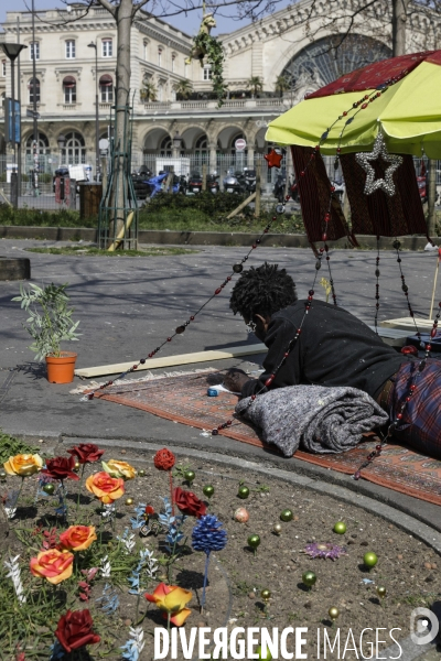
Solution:
[[[17,613],[20,613],[20,608],[17,606],[12,583],[2,571],[0,598],[2,603],[14,603],[13,609],[3,616],[1,624],[0,650],[4,659],[14,659],[18,643],[28,649],[32,647],[32,658],[47,659],[56,622],[67,607],[90,609],[95,630],[101,636],[99,646],[88,647],[92,659],[121,659],[119,647],[128,640],[129,627],[136,625],[141,626],[144,631],[146,647],[140,659],[153,659],[154,629],[166,622],[158,608],[143,596],[138,599],[136,595],[129,594],[128,577],[139,561],[139,551],[144,548],[152,550],[160,561],[157,579],[149,582],[146,572],[141,572],[142,595],[144,592],[152,593],[161,579],[166,581],[168,553],[163,531],[157,535],[152,532],[148,537],[140,537],[139,530],[132,530],[130,519],[136,518],[133,507],[139,502],[150,505],[155,512],[161,512],[161,497],[170,497],[169,477],[165,472],[154,468],[152,454],[141,456],[107,449],[103,458],[129,462],[138,469],[143,469],[146,475],[126,483],[126,495],[117,502],[114,527],[103,524],[99,503],[84,486],[76,514],[79,483],[66,480],[68,523],[94,524],[101,533],[98,532],[97,542],[84,555],[83,564],[77,562],[74,576],[54,590],[46,589],[45,599],[52,599],[52,606],[43,606],[42,602],[39,609],[32,610],[31,624],[26,624],[25,640],[18,630]],[[183,472],[189,468],[195,473],[191,487],[182,477]],[[88,465],[84,478],[97,470],[100,470],[99,464]],[[308,489],[273,479],[270,472],[262,479],[261,475],[249,470],[211,466],[203,460],[185,458],[178,459],[174,472],[174,486],[191,490],[208,502],[208,513],[216,514],[228,535],[225,549],[212,554],[206,607],[201,613],[205,554],[194,552],[191,546],[192,529],[196,520],[189,517],[183,524],[186,544],[172,565],[170,583],[193,593],[189,604],[192,613],[184,625],[186,630],[203,626],[211,627],[212,630],[227,627],[230,632],[236,627],[245,630],[255,627],[270,631],[278,628],[280,633],[287,627],[304,627],[308,628],[308,632],[303,633],[306,642],[301,651],[306,652],[309,659],[318,659],[318,636],[320,635],[320,658],[323,658],[325,631],[333,641],[340,629],[340,651],[337,647],[334,652],[327,649],[326,658],[363,658],[361,651],[368,658],[370,642],[374,643],[375,652],[376,638],[384,641],[378,644],[381,654],[384,649],[394,643],[394,639],[399,641],[409,636],[412,609],[418,606],[428,607],[440,599],[441,561],[438,554],[415,537],[354,505],[340,502],[326,495],[318,496]],[[20,478],[8,477],[7,483],[1,484],[1,492],[19,488],[20,481]],[[214,487],[214,495],[209,500],[203,494],[203,487],[207,485]],[[241,499],[238,489],[244,485],[249,488],[249,496]],[[41,549],[45,539],[44,530],[57,528],[57,534],[66,528],[61,517],[54,514],[58,505],[54,497],[40,495],[35,501],[36,486],[36,478],[25,479],[15,518],[11,520],[11,528],[23,544],[21,574],[29,602],[42,599],[41,594],[36,597],[41,593],[42,582],[29,572],[30,557]],[[126,505],[127,498],[132,498],[133,505]],[[249,513],[246,523],[234,520],[234,513],[239,507],[246,508]],[[292,520],[282,521],[280,514],[287,509],[292,511]],[[152,521],[154,517],[150,524]],[[344,534],[333,531],[337,521],[345,522]],[[273,530],[276,523],[280,523],[280,534]],[[136,546],[131,553],[126,553],[125,546],[117,539],[126,529],[126,534],[136,535]],[[252,534],[260,538],[256,552],[248,544],[248,538]],[[312,557],[305,553],[305,548],[314,543],[318,544],[318,548],[312,548],[315,553],[335,551],[330,546],[322,548],[322,544],[337,545],[344,551],[336,552],[340,556],[334,561]],[[378,557],[376,566],[370,570],[363,561],[367,552],[374,552]],[[105,578],[98,573],[92,582],[88,600],[82,600],[78,588],[80,568],[101,566],[105,555],[108,555],[112,565],[110,576]],[[316,576],[316,583],[311,588],[302,579],[305,572],[313,572]],[[96,602],[103,596],[106,583],[115,589],[119,599],[119,607],[114,615],[103,613],[103,604]],[[378,587],[386,588],[384,598],[378,596]],[[270,590],[270,596],[263,599],[261,593],[266,589]],[[263,593],[263,596],[268,597],[268,594]],[[29,603],[25,608],[31,606]],[[334,625],[329,615],[331,607],[338,609]],[[42,614],[44,622],[39,620]],[[39,621],[32,624],[32,619]],[[373,631],[365,631],[361,647],[361,635],[366,628]],[[392,629],[395,630],[391,632]],[[258,638],[258,633],[255,637]],[[288,638],[289,651],[294,651],[293,641],[294,636]],[[193,657],[198,658],[196,648]],[[171,659],[171,655],[165,658]],[[183,657],[179,654],[178,658]]]

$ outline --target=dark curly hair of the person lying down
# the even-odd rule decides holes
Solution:
[[[256,313],[271,316],[295,301],[295,284],[291,275],[278,264],[265,262],[240,275],[233,289],[229,307],[235,314],[252,319]]]

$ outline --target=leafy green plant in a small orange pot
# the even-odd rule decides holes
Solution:
[[[66,294],[67,284],[56,286],[54,283],[40,288],[30,283],[29,289],[20,284],[20,296],[12,301],[19,301],[21,307],[26,311],[28,326],[23,327],[33,337],[33,344],[29,347],[35,351],[35,360],[46,360],[47,381],[51,383],[71,383],[74,380],[76,354],[62,351],[60,343],[64,340],[77,340],[75,333],[79,321],[73,322],[73,307],[68,307]]]

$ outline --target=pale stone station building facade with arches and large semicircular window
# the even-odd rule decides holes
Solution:
[[[342,11],[349,4],[351,0],[342,2]],[[201,67],[197,61],[186,64],[190,35],[140,11],[131,28],[133,164],[153,155],[178,155],[172,147],[178,132],[180,153],[191,156],[195,165],[206,162],[211,170],[218,170],[219,159],[234,159],[237,138],[245,138],[245,161],[251,165],[256,153],[268,149],[265,132],[271,119],[345,71],[390,55],[390,25],[385,21],[388,6],[379,0],[368,21],[357,19],[337,51],[333,46],[344,30],[341,23],[340,32],[325,25],[325,1],[314,2],[312,17],[311,0],[301,0],[256,24],[220,35],[229,95],[219,109],[209,98],[176,100],[175,88],[183,79],[190,79],[200,95],[208,93],[209,67]],[[66,10],[37,12],[33,44],[31,13],[8,11],[3,31],[4,41],[28,46],[20,56],[23,153],[30,155],[32,149],[32,119],[25,111],[33,104],[35,56],[40,150],[45,167],[94,163],[96,86],[100,138],[107,137],[115,98],[117,34],[111,15],[99,6],[85,13],[84,6],[75,3]],[[408,51],[437,47],[438,32],[435,19],[413,13],[408,24]],[[89,44],[96,45],[97,66],[95,48]],[[0,58],[0,95],[10,96],[9,62],[1,52]],[[256,98],[247,93],[251,76],[262,82],[263,91]],[[278,94],[280,76],[290,86]],[[143,82],[154,88],[155,100],[141,95]],[[8,153],[1,131],[0,123],[0,151]],[[65,138],[64,150],[58,148],[60,134]]]

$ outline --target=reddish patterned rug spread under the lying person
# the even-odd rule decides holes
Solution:
[[[97,392],[95,397],[206,432],[230,419],[232,426],[219,431],[219,435],[279,454],[275,445],[268,445],[259,438],[258,432],[249,423],[234,415],[237,402],[235,394],[220,392],[218,397],[207,397],[207,388],[219,382],[222,376],[213,370],[128,383],[121,381]],[[352,475],[377,443],[375,435],[368,435],[365,442],[346,453],[313,455],[298,451],[294,456],[315,466]],[[388,489],[441,505],[441,462],[400,445],[387,445],[381,456],[362,472],[362,477]]]

